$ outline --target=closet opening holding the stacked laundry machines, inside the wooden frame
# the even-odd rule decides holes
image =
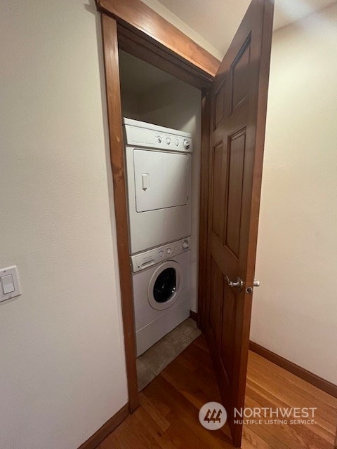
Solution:
[[[121,49],[119,77],[140,391],[200,334],[201,90]]]

